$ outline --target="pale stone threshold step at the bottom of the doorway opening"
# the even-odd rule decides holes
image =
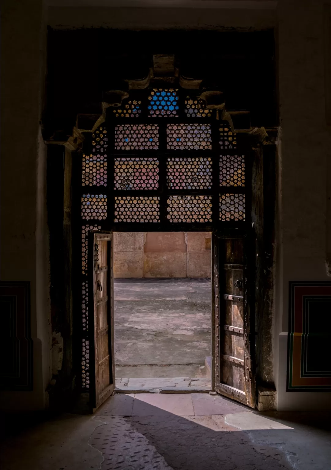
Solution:
[[[207,377],[134,377],[116,379],[117,393],[208,393]]]

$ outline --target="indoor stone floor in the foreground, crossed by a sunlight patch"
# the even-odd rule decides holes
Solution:
[[[330,415],[258,413],[209,394],[116,394],[95,415],[64,414],[0,448],[1,470],[327,470]]]

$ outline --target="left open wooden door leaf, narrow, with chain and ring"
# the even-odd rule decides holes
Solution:
[[[90,408],[94,412],[115,388],[113,235],[92,232],[89,253],[89,290],[93,292],[89,308]]]

